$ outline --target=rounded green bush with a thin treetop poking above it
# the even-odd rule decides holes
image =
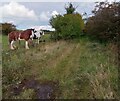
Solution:
[[[70,4],[70,9],[71,7]],[[57,15],[50,19],[50,24],[55,28],[54,39],[72,39],[79,37],[84,29],[84,21],[79,13],[68,11],[67,14]],[[69,13],[68,13],[69,12]],[[71,12],[71,13],[70,13]]]

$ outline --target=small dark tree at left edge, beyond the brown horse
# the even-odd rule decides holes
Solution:
[[[16,26],[12,23],[0,23],[0,25],[2,26],[2,33],[5,35],[16,30]]]

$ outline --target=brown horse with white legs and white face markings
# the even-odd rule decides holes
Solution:
[[[34,36],[34,29],[27,29],[22,32],[12,31],[11,33],[8,34],[10,49],[12,50],[15,49],[15,45],[13,44],[17,40],[25,40],[26,41],[25,48],[29,49],[28,42],[30,39],[32,40],[33,36]]]

